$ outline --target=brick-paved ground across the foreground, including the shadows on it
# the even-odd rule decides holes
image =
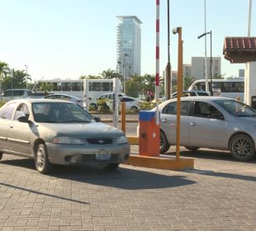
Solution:
[[[5,155],[0,230],[256,230],[255,161],[187,156],[196,169],[56,166],[45,176],[32,160]]]

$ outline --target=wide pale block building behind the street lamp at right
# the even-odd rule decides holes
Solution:
[[[211,79],[211,75],[212,78],[215,75],[220,75],[220,60],[220,57],[206,58],[208,79]],[[196,79],[206,78],[205,57],[192,57],[191,76]]]

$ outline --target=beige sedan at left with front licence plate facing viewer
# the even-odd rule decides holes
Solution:
[[[53,164],[116,168],[129,158],[126,134],[70,101],[24,99],[0,108],[3,153],[34,158],[40,173]]]

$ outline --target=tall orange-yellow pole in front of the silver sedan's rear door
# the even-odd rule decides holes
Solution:
[[[176,123],[176,159],[179,159],[180,152],[180,117],[181,97],[183,93],[183,40],[182,27],[178,27],[178,81],[177,81],[177,123]]]

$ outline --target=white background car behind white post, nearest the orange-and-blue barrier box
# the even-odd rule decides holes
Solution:
[[[120,103],[124,101],[126,102],[126,110],[133,111],[133,112],[140,111],[140,103],[143,102],[134,97],[119,97],[118,101],[119,101],[119,108],[120,108]],[[113,111],[113,101],[107,101],[106,103],[109,111]]]

